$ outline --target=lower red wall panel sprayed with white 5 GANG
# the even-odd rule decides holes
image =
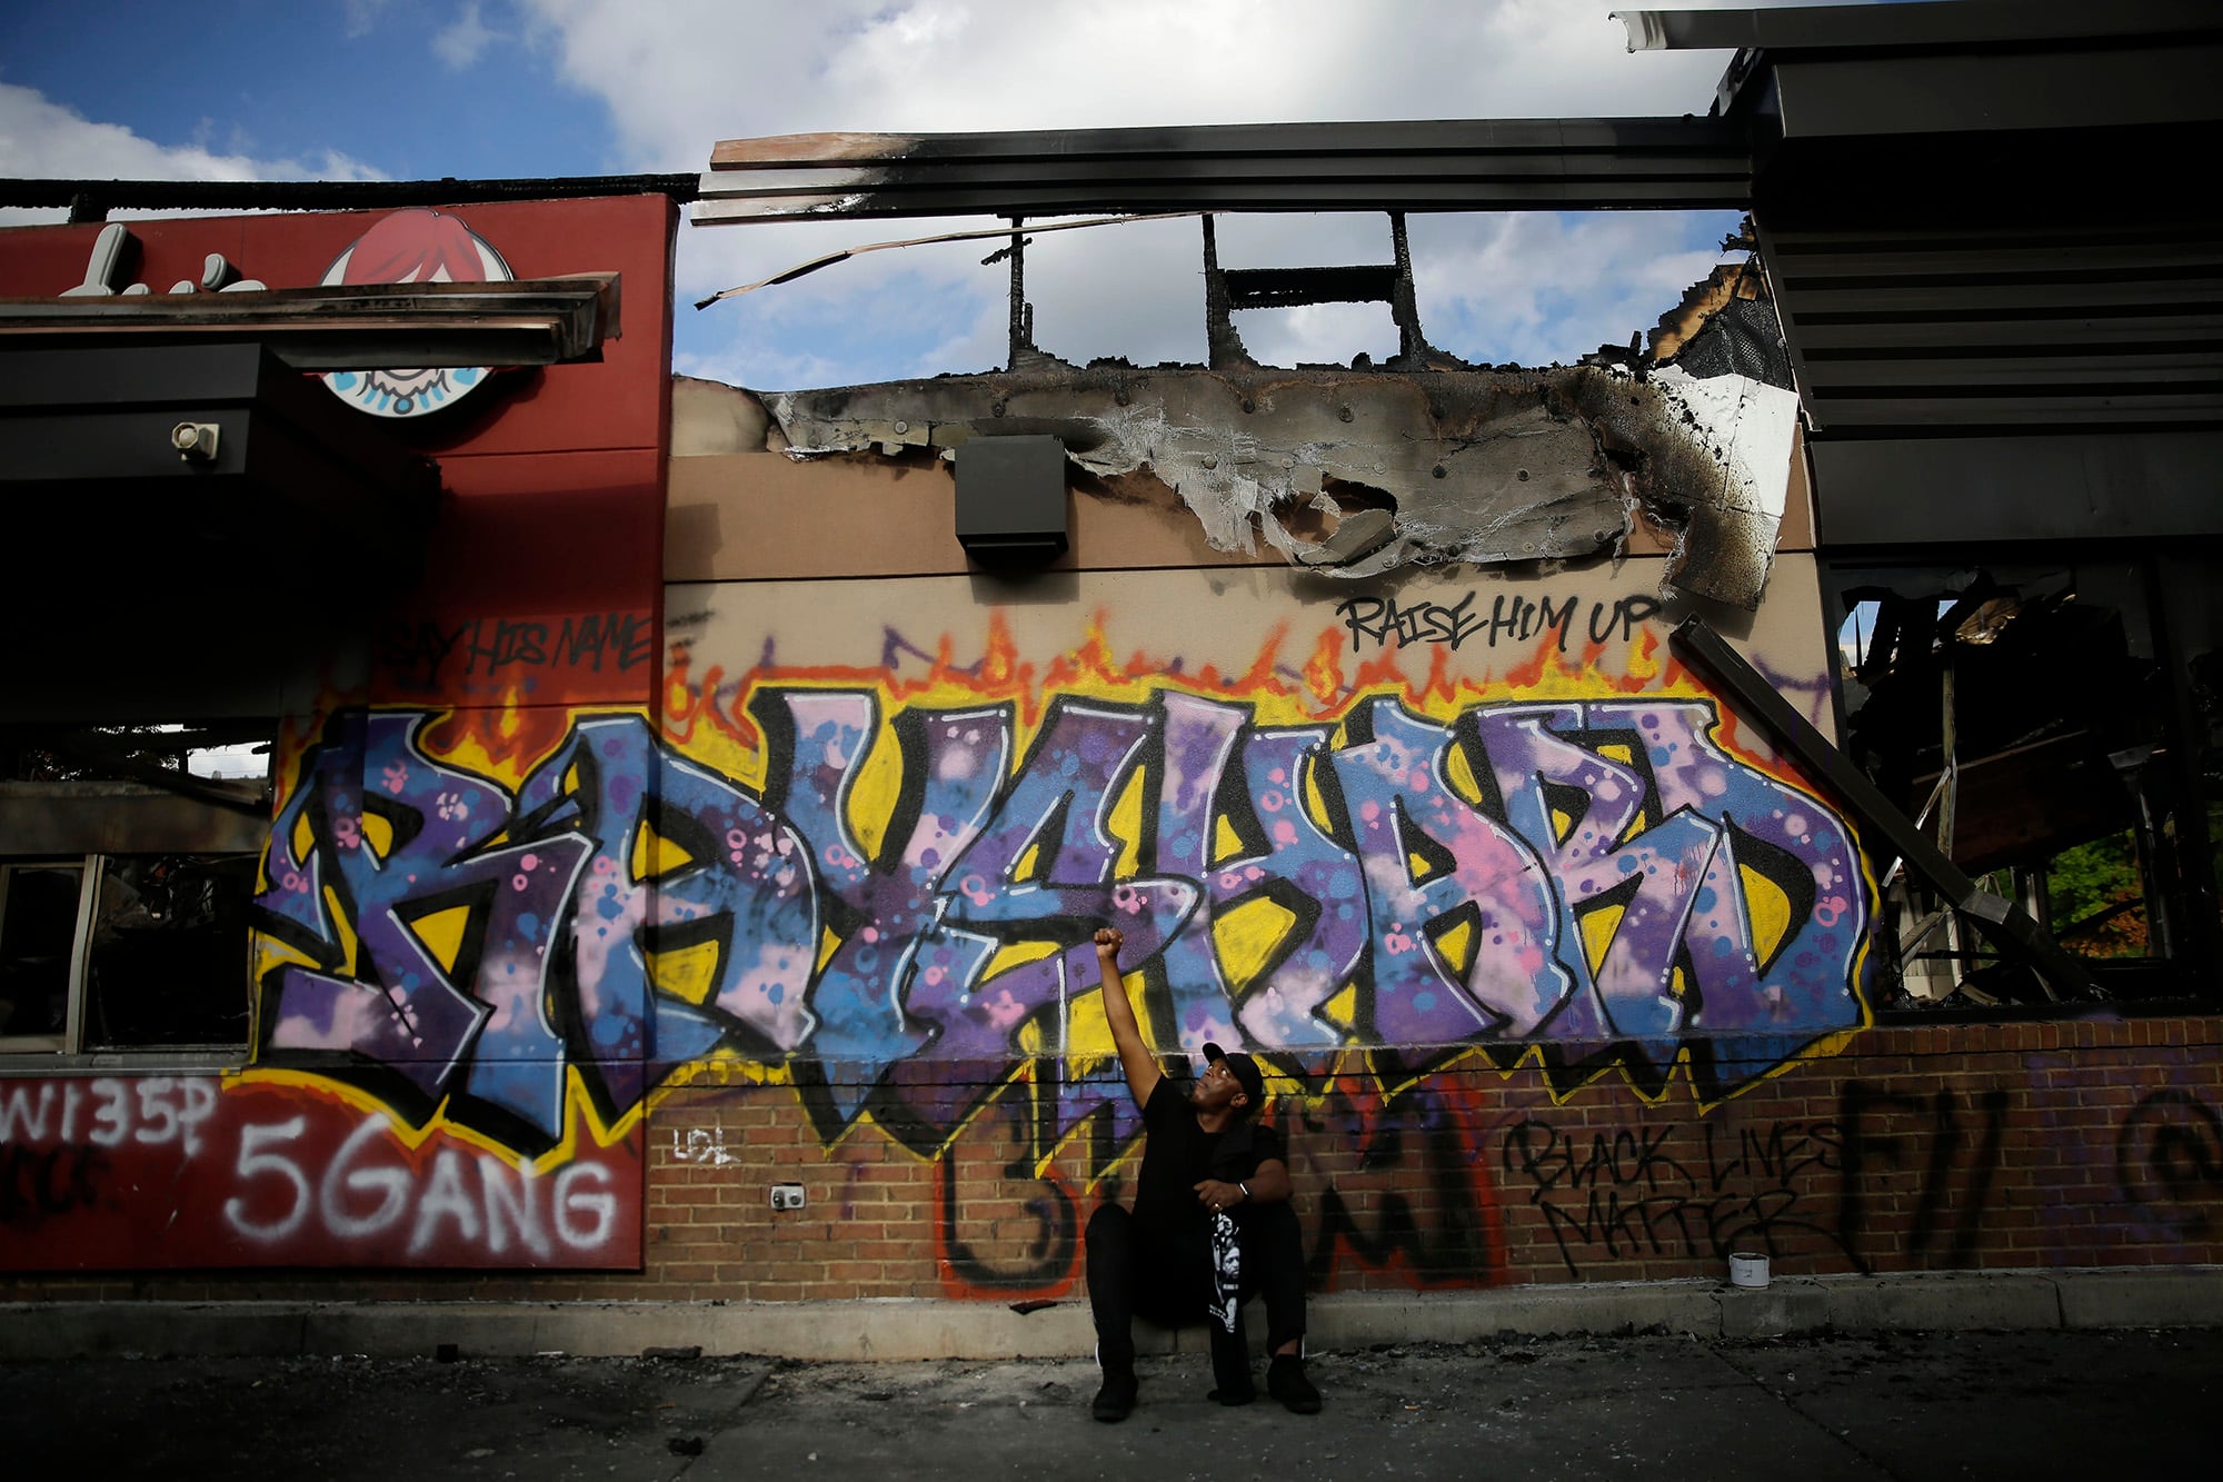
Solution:
[[[316,1084],[0,1084],[0,1268],[640,1264],[642,1133],[540,1164]]]

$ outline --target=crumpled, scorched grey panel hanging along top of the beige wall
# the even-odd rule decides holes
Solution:
[[[1091,474],[1149,470],[1172,485],[1214,550],[1265,539],[1334,576],[1589,556],[1616,547],[1636,501],[1685,532],[1672,583],[1752,607],[1783,514],[1790,418],[1758,396],[1770,387],[1718,381],[1734,385],[1587,365],[1385,376],[1056,363],[765,403],[791,456],[1056,436]],[[1389,525],[1360,550],[1338,550],[1334,525],[1323,541],[1292,530],[1383,505]]]

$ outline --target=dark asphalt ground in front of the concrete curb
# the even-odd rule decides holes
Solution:
[[[1263,1371],[1260,1371],[1263,1373]],[[102,1357],[0,1364],[0,1475],[2185,1478],[2223,1442],[2223,1328],[1507,1337],[1318,1353],[1327,1404],[1205,1400],[1145,1357]]]

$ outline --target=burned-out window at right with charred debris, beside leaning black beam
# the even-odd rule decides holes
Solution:
[[[2139,903],[2150,917],[2159,912],[2159,941],[2143,957],[2085,957],[2079,952],[2079,939],[2072,930],[2063,948],[2074,952],[2083,968],[2090,970],[2099,997],[2121,999],[2125,1006],[2141,1008],[2183,1006],[2187,1001],[2212,1008],[2223,997],[2216,981],[2219,930],[2216,921],[2210,919],[2216,892],[2203,888],[2201,881],[2214,879],[2210,819],[2219,808],[2219,797],[2214,783],[2203,781],[2203,741],[2196,734],[2196,725],[2172,696],[2181,688],[2176,670],[2183,668],[2176,650],[2185,641],[2192,641],[2194,634],[2174,632],[2181,614],[2165,601],[2167,587],[2161,581],[2159,563],[2161,552],[2145,543],[2085,543],[2076,547],[2001,543],[1985,547],[1894,547],[1836,554],[1821,565],[1823,610],[1830,632],[1825,648],[1830,650],[1832,701],[1836,705],[1838,734],[1843,737],[1841,750],[1863,774],[1876,779],[1878,768],[1874,759],[1863,761],[1863,741],[1854,730],[1854,714],[1872,696],[1865,696],[1863,705],[1852,703],[1861,699],[1856,694],[1858,676],[1850,672],[1850,656],[1838,641],[1843,628],[1850,625],[1854,601],[1863,590],[1892,585],[1892,590],[1907,594],[1925,583],[1943,587],[1963,574],[1994,574],[1996,579],[1998,572],[2007,572],[2027,579],[2041,570],[2056,570],[2067,576],[2067,590],[2074,596],[2079,587],[2107,587],[2105,581],[2087,583],[2083,574],[2105,567],[2119,572],[2116,592],[2132,596],[2139,610],[2110,612],[2127,625],[2125,643],[2130,648],[2125,654],[2150,665],[2145,683],[2152,685],[2145,696],[2145,712],[2134,719],[2150,734],[2130,745],[2107,748],[2105,757],[2114,774],[2125,781],[2130,821],[2125,830],[2065,843],[2058,850],[2045,852],[2034,863],[2021,868],[1970,868],[1970,875],[1976,875],[2007,901],[2030,910],[2036,921],[2050,923],[2045,899],[2047,877],[2056,870],[2061,857],[2072,848],[2085,848],[2087,843],[2130,832],[2141,877]],[[2003,585],[2016,587],[2014,581],[2005,581]],[[1921,603],[1921,594],[1907,601]],[[1945,616],[1947,612],[1941,607],[1938,619]],[[1970,616],[1963,614],[1954,621],[1954,630],[1963,630]],[[1952,674],[1952,665],[1941,663],[1941,674]],[[1952,710],[1945,708],[1950,692],[1947,681],[1945,692],[1938,696],[1941,732],[1950,728],[1947,717]],[[2079,714],[2076,703],[2058,710],[2061,719],[2074,714]],[[2110,719],[2121,721],[2123,717],[2116,714]],[[2074,732],[2043,737],[2036,745],[2043,748],[2070,739],[2074,739]],[[1921,786],[1907,788],[1907,783],[1916,781],[1912,777],[1876,781],[1903,806],[1907,817],[1921,823],[1932,841],[1952,852],[1956,821],[1947,812],[1947,803],[1958,803],[1956,772],[2001,761],[2016,750],[2010,745],[1970,759],[1967,754],[1954,754],[1954,748],[1947,743],[1941,765],[1934,774],[1921,777]],[[1892,781],[1898,786],[1890,786]],[[1870,848],[1876,850],[1876,843]],[[1990,992],[1983,984],[1983,970],[1998,964],[1998,955],[1987,946],[1985,935],[1974,930],[1974,923],[1965,921],[1954,903],[1938,899],[1927,888],[1927,881],[1905,870],[1903,861],[1890,861],[1887,850],[1876,852],[1878,866],[1883,866],[1878,875],[1883,901],[1874,957],[1874,1004],[1881,1019],[1907,1024],[1936,1021],[1941,1017],[2005,1019],[2087,1008],[2045,1001],[2054,995],[2043,984],[2038,984],[2041,992],[2032,995]],[[1983,866],[1985,861],[1976,859],[1974,863]],[[2092,919],[2087,917],[2070,926],[2087,928]],[[1947,990],[1936,999],[1910,997],[1903,988],[1910,961],[1947,964]],[[1976,977],[1972,979],[1972,975]]]

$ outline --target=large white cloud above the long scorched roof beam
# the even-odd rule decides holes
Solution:
[[[1703,109],[1725,56],[1567,0],[522,0],[636,169],[720,138]],[[654,24],[642,18],[651,13]]]

